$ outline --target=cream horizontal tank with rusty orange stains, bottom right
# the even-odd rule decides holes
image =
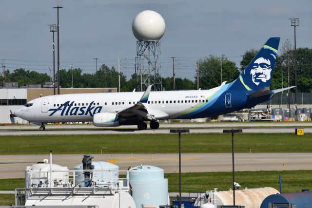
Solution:
[[[276,193],[279,191],[271,187],[237,189],[235,190],[235,205],[245,206],[245,208],[259,208],[267,196]],[[206,191],[196,199],[194,206],[202,206],[206,203],[216,206],[233,205],[233,190]]]

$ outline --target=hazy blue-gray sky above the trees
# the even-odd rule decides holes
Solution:
[[[7,69],[25,68],[49,74],[52,33],[57,23],[54,0],[2,0],[0,59]],[[95,61],[134,73],[136,38],[132,21],[143,10],[158,12],[166,22],[161,38],[162,76],[193,79],[196,60],[210,54],[229,57],[239,67],[241,55],[258,49],[270,37],[293,43],[289,18],[299,18],[297,47],[312,47],[312,0],[63,0],[60,1],[61,68],[95,72]],[[57,42],[57,41],[56,41]],[[280,44],[280,45],[281,45]],[[127,61],[126,59],[127,58]]]

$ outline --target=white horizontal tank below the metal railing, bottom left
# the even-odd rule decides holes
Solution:
[[[120,203],[120,205],[119,205]],[[30,196],[25,206],[98,206],[98,208],[136,208],[135,201],[127,192],[114,195],[47,195]]]

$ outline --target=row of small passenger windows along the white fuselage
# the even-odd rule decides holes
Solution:
[[[148,101],[148,104],[160,104],[160,103],[200,103],[200,102],[205,102],[205,100],[162,100],[162,101]],[[206,102],[208,102],[208,100],[206,100]],[[139,102],[137,102],[139,103]],[[125,102],[112,102],[112,105],[124,105]],[[133,105],[136,104],[136,102],[132,102]],[[63,106],[64,104],[54,104],[54,107],[59,107],[59,106]],[[99,105],[99,103],[93,103],[93,105]],[[107,103],[105,102],[104,105],[107,105]],[[131,105],[131,101],[129,102],[129,105]],[[72,104],[67,104],[67,106],[88,106],[88,103],[72,103]]]

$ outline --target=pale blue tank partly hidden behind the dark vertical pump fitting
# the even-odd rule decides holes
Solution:
[[[95,182],[97,186],[105,186],[109,183],[114,183],[119,178],[119,167],[112,163],[104,162],[104,161],[92,161],[92,165],[94,165],[93,174],[95,174]],[[75,166],[75,170],[82,170],[82,163]],[[76,175],[76,185],[80,185],[84,187],[84,174],[82,171],[77,171]]]

